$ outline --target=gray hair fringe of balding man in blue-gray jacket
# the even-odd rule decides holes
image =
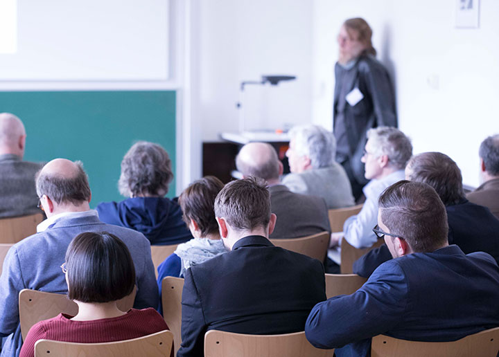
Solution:
[[[88,176],[83,170],[81,161],[75,161],[78,172],[74,177],[64,177],[58,174],[44,174],[42,170],[36,173],[37,195],[46,195],[56,203],[73,203],[80,205],[90,200],[90,186]]]

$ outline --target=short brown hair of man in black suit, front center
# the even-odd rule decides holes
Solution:
[[[254,177],[227,183],[216,197],[215,214],[237,230],[267,227],[270,221],[267,183]]]

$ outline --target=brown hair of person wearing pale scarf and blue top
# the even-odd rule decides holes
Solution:
[[[198,224],[201,235],[206,236],[218,232],[213,205],[224,184],[215,176],[204,176],[194,181],[179,197],[182,218],[189,226],[192,219]]]

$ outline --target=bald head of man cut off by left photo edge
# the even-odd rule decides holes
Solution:
[[[17,116],[11,113],[0,113],[0,154],[24,156],[26,131]]]

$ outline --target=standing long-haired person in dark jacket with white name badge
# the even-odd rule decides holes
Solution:
[[[375,58],[371,35],[365,19],[344,21],[338,35],[340,55],[335,64],[336,161],[347,171],[356,199],[367,183],[360,161],[367,130],[397,126],[394,89],[386,68]]]

